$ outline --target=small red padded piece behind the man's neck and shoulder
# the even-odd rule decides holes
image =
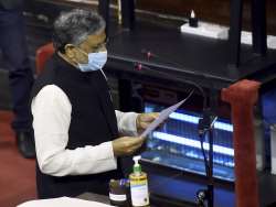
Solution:
[[[47,43],[36,50],[35,72],[39,75],[45,66],[46,61],[54,54],[53,43]]]

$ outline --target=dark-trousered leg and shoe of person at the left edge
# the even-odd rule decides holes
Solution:
[[[33,74],[28,58],[22,0],[0,0],[0,50],[9,67],[17,144],[21,154],[34,157],[32,116],[29,107]]]

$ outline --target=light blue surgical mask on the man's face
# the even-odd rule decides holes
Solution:
[[[102,69],[107,62],[107,51],[88,53],[88,63],[81,64],[78,67],[82,72],[95,72]]]

